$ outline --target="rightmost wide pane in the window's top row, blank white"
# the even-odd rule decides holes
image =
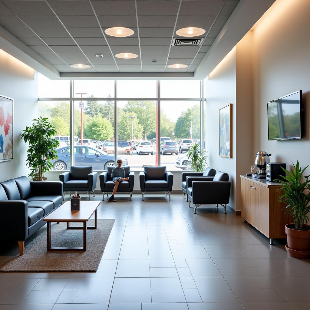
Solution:
[[[161,98],[200,98],[200,81],[160,81]]]

